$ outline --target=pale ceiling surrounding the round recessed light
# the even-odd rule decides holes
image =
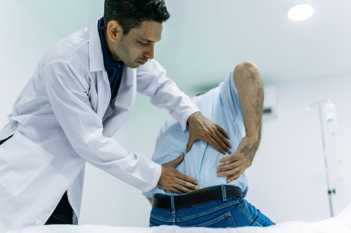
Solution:
[[[103,1],[19,1],[62,38],[92,23]],[[307,3],[314,14],[291,21],[288,10]],[[351,1],[166,0],[171,18],[155,58],[188,94],[216,85],[245,60],[265,84],[351,78]]]

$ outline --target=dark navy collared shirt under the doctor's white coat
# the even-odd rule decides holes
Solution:
[[[99,36],[102,47],[103,54],[103,65],[105,66],[106,71],[108,72],[108,80],[110,80],[111,87],[111,100],[117,96],[119,85],[121,84],[121,76],[123,71],[123,61],[116,61],[112,57],[110,50],[108,49],[108,45],[103,38],[103,32],[101,27],[103,26],[103,17],[99,19],[99,23],[97,25],[97,29],[99,30]]]

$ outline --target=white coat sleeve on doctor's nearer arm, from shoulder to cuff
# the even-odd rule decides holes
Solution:
[[[40,75],[54,115],[79,156],[140,190],[157,185],[161,165],[103,137],[102,120],[90,107],[89,78],[66,60],[48,63]]]

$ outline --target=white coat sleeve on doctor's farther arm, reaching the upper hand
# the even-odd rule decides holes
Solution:
[[[167,109],[181,124],[183,131],[189,116],[200,111],[175,82],[166,77],[166,70],[154,59],[137,69],[137,91],[150,96],[156,107]]]

